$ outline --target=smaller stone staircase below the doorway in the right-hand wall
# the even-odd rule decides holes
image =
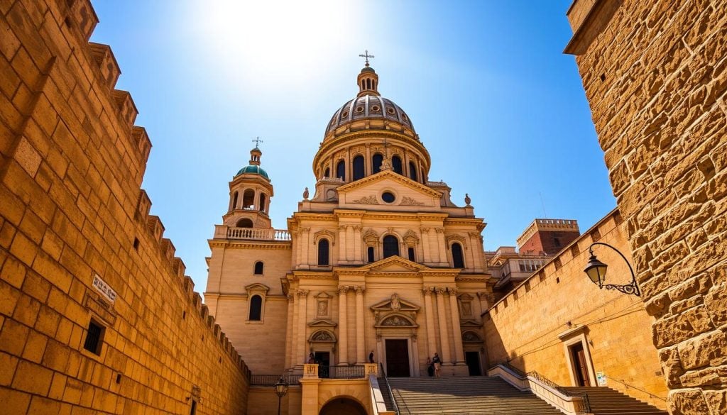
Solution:
[[[631,398],[610,387],[561,387],[568,392],[586,393],[595,415],[668,415],[648,403]]]

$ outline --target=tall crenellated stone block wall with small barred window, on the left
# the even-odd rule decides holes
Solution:
[[[87,0],[0,1],[0,412],[245,414],[249,371],[148,214],[150,142],[96,23]]]

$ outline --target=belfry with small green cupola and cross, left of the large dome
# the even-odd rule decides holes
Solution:
[[[270,229],[272,224],[268,212],[273,184],[268,172],[260,167],[262,151],[258,145],[262,140],[253,140],[255,148],[250,150],[249,165],[240,169],[230,182],[230,205],[222,217],[229,227],[254,227]]]

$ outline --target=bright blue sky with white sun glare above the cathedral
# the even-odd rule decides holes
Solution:
[[[324,128],[357,92],[358,54],[411,117],[430,180],[469,193],[485,249],[515,245],[536,217],[587,230],[614,208],[574,57],[553,1],[96,1],[153,148],[143,188],[204,291],[207,239],[228,182],[260,136],[286,227]],[[545,209],[544,209],[545,208]]]

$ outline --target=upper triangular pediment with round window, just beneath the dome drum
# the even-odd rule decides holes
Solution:
[[[390,170],[372,174],[369,177],[337,188],[339,205],[366,205],[367,207],[413,206],[439,208],[442,193],[415,182]],[[382,194],[391,193],[393,201],[385,201]]]

